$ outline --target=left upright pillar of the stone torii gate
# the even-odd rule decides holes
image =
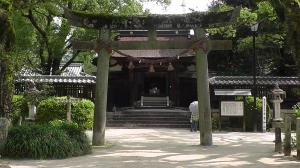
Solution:
[[[110,31],[107,29],[100,30],[100,40],[109,42]],[[100,44],[97,44],[100,46]],[[106,107],[107,107],[107,89],[109,74],[110,54],[104,46],[100,46],[97,60],[97,80],[96,80],[96,100],[94,112],[93,127],[93,145],[100,146],[105,144],[105,127],[106,127]]]

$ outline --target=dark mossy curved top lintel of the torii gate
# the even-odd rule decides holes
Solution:
[[[175,15],[107,15],[88,14],[78,11],[64,10],[64,16],[75,26],[110,30],[145,30],[145,29],[193,29],[224,26],[235,22],[240,8],[225,12],[192,12]]]

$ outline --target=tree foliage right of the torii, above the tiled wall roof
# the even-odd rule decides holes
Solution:
[[[228,10],[242,6],[239,24],[232,27],[208,30],[211,37],[232,39],[235,43],[233,53],[228,53],[225,64],[227,75],[251,74],[246,68],[253,55],[250,26],[259,23],[256,32],[256,52],[260,75],[296,75],[299,74],[299,3],[295,1],[231,1],[219,0],[210,10]],[[290,5],[287,5],[289,4]],[[288,6],[293,6],[293,10]],[[287,10],[287,11],[285,11]],[[289,12],[288,12],[289,11]],[[292,16],[293,15],[293,16]],[[299,27],[299,26],[298,26]],[[298,40],[297,40],[298,39]],[[218,59],[216,59],[218,60]],[[218,69],[218,68],[217,68]],[[248,71],[247,71],[248,70]]]

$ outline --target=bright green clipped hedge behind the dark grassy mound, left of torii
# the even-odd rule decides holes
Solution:
[[[67,116],[67,98],[51,97],[40,102],[37,108],[36,121],[48,123],[53,120],[64,120]],[[94,103],[81,99],[72,102],[72,121],[81,129],[91,129],[93,126]]]

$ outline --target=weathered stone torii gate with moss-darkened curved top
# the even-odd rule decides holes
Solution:
[[[221,13],[193,12],[183,15],[110,16],[84,14],[65,9],[65,17],[75,26],[99,30],[96,41],[73,41],[77,50],[95,50],[98,53],[93,145],[105,144],[107,88],[109,60],[112,49],[188,49],[196,52],[197,94],[199,101],[200,144],[212,145],[210,94],[207,54],[211,50],[231,50],[229,40],[208,40],[204,28],[232,22],[239,9]],[[224,24],[222,24],[224,25]],[[157,41],[156,30],[194,29],[195,40]],[[148,41],[112,41],[111,30],[149,30]]]

